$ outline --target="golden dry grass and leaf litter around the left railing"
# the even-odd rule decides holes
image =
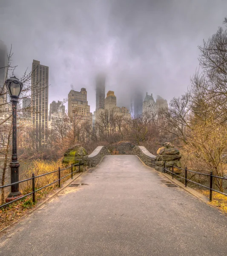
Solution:
[[[46,162],[44,160],[34,160],[32,163],[29,163],[26,166],[25,172],[20,175],[20,180],[32,177],[32,173],[34,172],[35,176],[41,175],[47,172],[53,172],[58,169],[58,166],[63,169],[66,166],[63,166],[61,163],[61,159],[58,161],[50,161]],[[71,173],[71,168],[63,170],[60,172],[61,177]],[[61,183],[68,180],[71,175],[61,180]],[[39,189],[40,187],[46,186],[49,183],[58,179],[58,172],[54,172],[50,175],[45,175],[43,177],[39,177],[35,181],[35,189]],[[22,216],[26,215],[37,202],[42,201],[46,198],[46,195],[53,193],[57,188],[58,183],[54,183],[51,186],[47,186],[45,189],[41,189],[40,191],[35,193],[36,202],[32,202],[32,196],[28,196],[17,202],[9,204],[6,207],[0,209],[0,230],[4,227],[9,226],[14,221],[17,221]],[[26,181],[24,183],[20,183],[20,191],[23,195],[26,195],[29,192],[32,192],[32,180]]]

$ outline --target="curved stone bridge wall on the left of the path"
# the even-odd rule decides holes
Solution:
[[[109,155],[109,150],[104,146],[98,146],[95,148],[92,154],[84,157],[84,163],[88,168],[95,167],[106,155]]]

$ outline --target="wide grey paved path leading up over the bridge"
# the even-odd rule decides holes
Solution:
[[[136,156],[101,164],[0,239],[1,256],[227,256],[227,217]]]

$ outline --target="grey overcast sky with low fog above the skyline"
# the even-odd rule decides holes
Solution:
[[[0,40],[17,76],[33,59],[49,66],[49,103],[86,87],[93,112],[100,71],[118,105],[129,107],[135,85],[144,97],[183,94],[198,45],[226,16],[227,0],[0,0]]]

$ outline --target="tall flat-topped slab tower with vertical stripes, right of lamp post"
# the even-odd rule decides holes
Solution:
[[[35,131],[37,146],[46,145],[48,128],[48,85],[49,67],[33,60],[32,63],[32,128]]]

